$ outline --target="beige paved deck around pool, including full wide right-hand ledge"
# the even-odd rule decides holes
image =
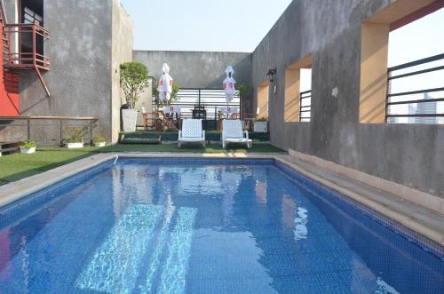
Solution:
[[[386,217],[393,219],[403,226],[422,234],[444,245],[444,216],[428,211],[415,203],[409,203],[395,195],[390,195],[359,181],[346,178],[337,173],[322,170],[312,163],[305,162],[290,155],[275,154],[190,154],[190,153],[118,153],[98,154],[79,160],[75,163],[60,166],[52,171],[20,179],[17,182],[0,187],[0,206],[12,203],[21,197],[32,194],[44,187],[52,185],[59,180],[66,179],[80,171],[85,171],[115,158],[123,157],[195,157],[195,158],[274,158],[286,163],[296,171],[350,197],[355,202],[378,211]]]

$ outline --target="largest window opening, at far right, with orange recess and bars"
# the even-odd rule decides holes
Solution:
[[[429,92],[423,91],[427,89],[422,89],[420,73],[408,74],[424,68],[414,69],[409,67],[409,65],[388,68],[390,61],[389,38],[393,35],[391,32],[415,20],[419,21],[424,16],[436,12],[442,6],[444,6],[442,1],[398,0],[362,22],[361,123],[418,123],[421,120],[424,120],[425,123],[426,118],[429,118],[429,122],[431,122],[430,116],[415,115],[421,115],[420,112],[426,114],[431,111],[434,111],[435,115],[438,113],[439,109],[435,107],[436,105],[427,105],[428,102],[425,101],[423,101],[424,103],[405,103],[423,98],[428,101],[429,96],[427,95],[429,95]],[[422,32],[422,34],[426,34],[426,31]],[[412,44],[417,42],[414,36],[410,36],[410,38]],[[404,44],[402,50],[397,54],[402,55],[406,52],[408,56],[412,57],[410,46]],[[410,65],[415,65],[415,62]],[[410,79],[410,82],[400,86],[402,84],[400,81],[407,77]],[[415,87],[415,91],[409,87]],[[444,84],[441,84],[440,87],[444,87]],[[424,105],[418,107],[419,104]],[[436,123],[438,120],[434,120],[434,122]]]

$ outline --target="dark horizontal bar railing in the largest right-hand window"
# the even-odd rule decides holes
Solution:
[[[444,114],[439,114],[436,112],[436,107],[435,107],[434,113],[391,114],[391,107],[392,106],[412,105],[412,104],[418,105],[418,104],[423,104],[423,103],[436,103],[436,102],[444,101],[444,97],[433,98],[433,99],[407,99],[407,100],[401,100],[401,101],[393,101],[392,100],[395,97],[399,98],[399,97],[403,97],[403,96],[405,97],[405,96],[415,95],[415,94],[428,94],[428,93],[432,93],[432,92],[444,91],[444,87],[438,87],[438,88],[422,89],[422,90],[416,90],[416,91],[402,91],[402,92],[396,92],[396,93],[392,92],[392,84],[391,83],[393,80],[398,80],[400,78],[405,78],[408,76],[424,75],[427,73],[432,73],[435,71],[443,70],[444,66],[442,66],[442,65],[433,66],[432,68],[415,70],[415,71],[405,73],[405,74],[400,74],[400,75],[393,75],[394,72],[399,71],[401,69],[413,68],[416,66],[428,64],[428,63],[438,61],[438,60],[444,60],[444,54],[439,54],[439,55],[428,57],[428,58],[425,58],[422,60],[415,60],[412,62],[401,64],[396,67],[388,68],[388,71],[387,71],[387,76],[388,76],[387,77],[387,95],[386,95],[386,103],[385,103],[385,123],[391,123],[391,118],[396,118],[396,117],[416,117],[416,118],[444,117]],[[444,85],[444,78],[441,79],[441,83]]]

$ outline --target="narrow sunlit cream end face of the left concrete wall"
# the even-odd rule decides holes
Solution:
[[[111,79],[113,84],[111,101],[111,125],[112,142],[118,139],[120,130],[120,107],[123,104],[123,91],[120,87],[120,65],[123,62],[132,61],[132,20],[125,12],[119,0],[113,0],[113,41],[112,41],[112,62]]]

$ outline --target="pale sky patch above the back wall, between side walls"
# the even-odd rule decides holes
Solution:
[[[135,50],[253,52],[291,0],[121,3],[134,22]]]

